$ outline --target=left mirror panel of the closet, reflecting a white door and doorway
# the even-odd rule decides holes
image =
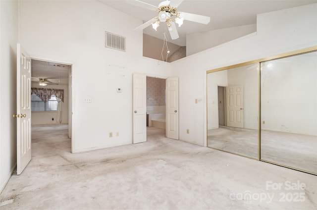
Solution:
[[[258,63],[207,74],[208,147],[258,158]]]

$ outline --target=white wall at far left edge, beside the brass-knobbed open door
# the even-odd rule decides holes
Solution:
[[[0,192],[16,165],[18,1],[0,0]]]

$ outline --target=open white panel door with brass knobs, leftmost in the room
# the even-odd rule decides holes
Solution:
[[[17,44],[16,111],[17,165],[22,173],[31,160],[31,57]]]

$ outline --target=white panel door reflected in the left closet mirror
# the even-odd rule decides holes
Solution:
[[[243,86],[226,88],[227,126],[243,128]]]

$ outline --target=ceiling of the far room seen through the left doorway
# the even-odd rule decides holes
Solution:
[[[34,59],[32,59],[31,64],[32,82],[38,82],[39,78],[47,78],[53,83],[60,85],[68,84],[68,70],[71,68],[70,65]]]

